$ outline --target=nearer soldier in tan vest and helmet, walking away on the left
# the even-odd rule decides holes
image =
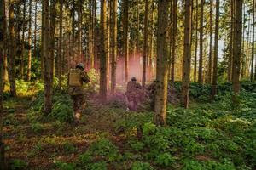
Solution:
[[[83,82],[90,82],[90,77],[84,71],[84,64],[80,63],[68,73],[68,93],[73,99],[74,119],[76,122],[79,122],[85,107]]]

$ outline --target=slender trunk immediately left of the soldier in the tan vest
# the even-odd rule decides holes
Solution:
[[[63,22],[63,0],[60,0],[60,37],[59,37],[59,48],[58,48],[58,78],[59,78],[59,88],[61,88],[61,74],[62,74],[62,23]]]

